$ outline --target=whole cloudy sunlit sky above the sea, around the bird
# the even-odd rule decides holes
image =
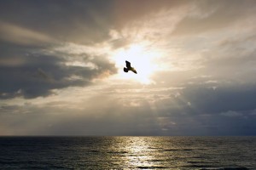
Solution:
[[[254,0],[2,0],[0,135],[256,135],[255,16]]]

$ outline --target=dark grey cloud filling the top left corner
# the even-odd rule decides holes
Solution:
[[[108,38],[112,1],[1,1],[0,20],[59,41],[101,42]],[[13,12],[15,11],[15,12]]]

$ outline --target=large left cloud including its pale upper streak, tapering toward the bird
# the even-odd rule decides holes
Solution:
[[[116,73],[102,47],[60,42],[29,24],[0,23],[0,99],[45,97]]]

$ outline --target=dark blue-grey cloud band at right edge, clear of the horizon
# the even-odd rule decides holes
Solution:
[[[216,114],[226,111],[252,111],[256,88],[252,85],[219,86],[216,89],[196,85],[182,90],[180,97],[183,102],[189,102],[195,108],[196,114]]]

